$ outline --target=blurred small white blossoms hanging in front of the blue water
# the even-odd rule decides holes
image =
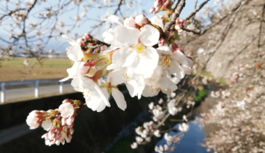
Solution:
[[[160,98],[158,104],[155,105],[154,102],[149,104],[149,112],[153,114],[153,120],[149,122],[144,122],[142,126],[137,127],[135,129],[135,133],[137,136],[135,137],[136,142],[130,145],[132,149],[138,147],[138,145],[144,145],[146,143],[151,142],[152,136],[160,138],[165,131],[160,131],[160,127],[165,125],[163,122],[169,117],[169,115],[176,115],[177,113],[181,112],[182,107],[176,107],[178,102],[176,102],[176,93],[172,92],[167,96],[167,101]],[[190,108],[195,105],[195,102],[187,102],[186,107]],[[164,146],[160,145],[159,147],[155,147],[156,152],[163,152],[164,150],[169,150],[170,148],[174,150],[174,143],[177,143],[183,134],[188,131],[189,124],[188,118],[186,115],[183,115],[182,123],[179,124],[179,131],[176,136],[170,136],[167,132],[164,134],[164,138],[167,141],[167,144]],[[172,145],[172,146],[171,146]]]

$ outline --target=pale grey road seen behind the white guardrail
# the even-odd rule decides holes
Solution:
[[[6,100],[8,99],[17,99],[20,97],[30,97],[34,96],[35,87],[28,88],[17,88],[17,89],[8,89],[6,90]],[[63,84],[63,92],[74,91],[70,83]],[[59,92],[59,85],[52,86],[40,86],[39,95],[49,94],[52,92]]]

